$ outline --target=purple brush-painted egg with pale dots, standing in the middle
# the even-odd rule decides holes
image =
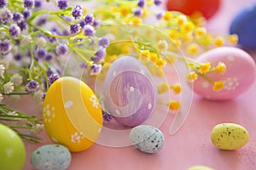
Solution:
[[[157,90],[148,69],[137,59],[123,56],[110,66],[103,83],[104,103],[113,118],[135,127],[153,113]]]

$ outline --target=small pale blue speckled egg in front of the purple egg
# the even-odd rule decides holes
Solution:
[[[140,125],[131,129],[130,140],[138,150],[155,153],[162,149],[165,136],[156,127]]]

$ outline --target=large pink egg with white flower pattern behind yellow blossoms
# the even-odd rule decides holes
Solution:
[[[255,80],[256,66],[253,58],[240,48],[214,48],[201,54],[197,60],[201,63],[210,62],[212,67],[217,66],[219,62],[223,62],[227,67],[224,74],[216,71],[206,74],[214,82],[223,81],[224,88],[222,90],[213,91],[212,83],[200,76],[193,82],[194,92],[205,99],[234,99],[244,94]]]

